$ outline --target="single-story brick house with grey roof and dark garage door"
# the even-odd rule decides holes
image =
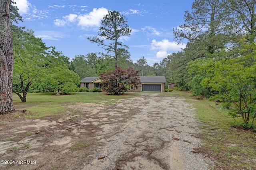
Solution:
[[[141,85],[136,89],[131,87],[132,92],[141,91],[158,91],[165,92],[165,83],[167,83],[164,76],[140,76]],[[99,77],[85,77],[80,81],[80,87],[87,87],[89,90],[93,88],[102,89],[101,79]]]

